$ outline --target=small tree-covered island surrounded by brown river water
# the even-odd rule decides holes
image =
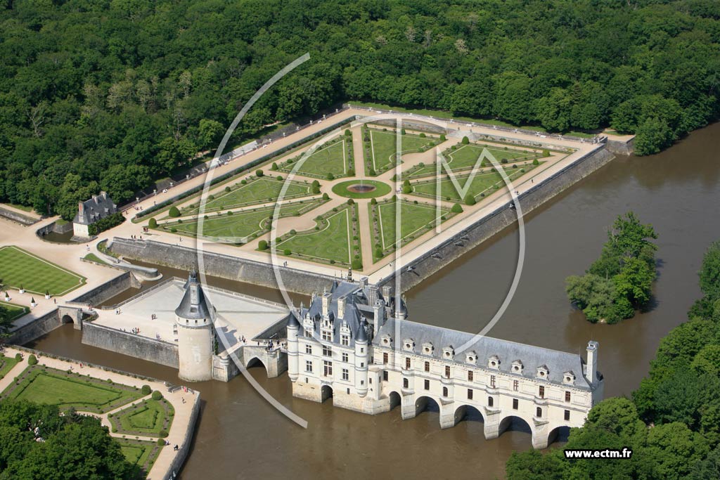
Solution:
[[[608,230],[600,258],[583,276],[565,279],[567,297],[590,322],[617,323],[647,307],[657,277],[657,233],[642,225],[633,212],[622,215]]]

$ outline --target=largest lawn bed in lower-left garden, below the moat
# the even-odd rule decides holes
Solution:
[[[37,366],[29,367],[20,384],[12,384],[6,391],[10,399],[98,413],[142,397],[140,391],[127,386],[105,384],[83,376],[68,376],[53,368],[43,371]]]

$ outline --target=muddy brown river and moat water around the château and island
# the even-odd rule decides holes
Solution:
[[[720,239],[719,139],[720,124],[714,124],[660,155],[618,157],[528,214],[523,275],[513,302],[488,335],[569,352],[598,340],[606,397],[629,395],[647,374],[660,339],[685,320],[700,295],[703,252]],[[619,325],[592,325],[568,304],[564,278],[582,273],[598,257],[607,227],[629,209],[660,236],[654,302],[649,312]],[[410,320],[480,330],[503,302],[517,255],[518,232],[509,228],[408,291]],[[210,283],[280,299],[257,286]],[[178,381],[171,368],[81,345],[72,325],[30,346]],[[362,415],[330,402],[292,398],[286,375],[267,379],[262,368],[251,373],[309,422],[307,430],[276,413],[241,377],[228,384],[195,384],[204,404],[183,479],[494,479],[503,478],[513,450],[530,448],[530,435],[521,428],[484,440],[480,422],[441,430],[433,412],[405,421],[399,409]]]

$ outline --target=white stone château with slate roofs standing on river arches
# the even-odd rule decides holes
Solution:
[[[580,427],[603,397],[598,343],[580,355],[407,320],[390,288],[336,282],[313,294],[287,324],[288,374],[295,397],[367,414],[400,407],[403,419],[428,407],[441,427],[478,413],[485,438],[513,419],[527,423],[534,448],[560,427]],[[463,345],[463,350],[459,350]]]

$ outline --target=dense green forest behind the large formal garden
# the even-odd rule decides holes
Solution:
[[[716,0],[7,0],[0,201],[72,217],[216,145],[346,99],[550,131],[611,126],[653,153],[718,117]]]

